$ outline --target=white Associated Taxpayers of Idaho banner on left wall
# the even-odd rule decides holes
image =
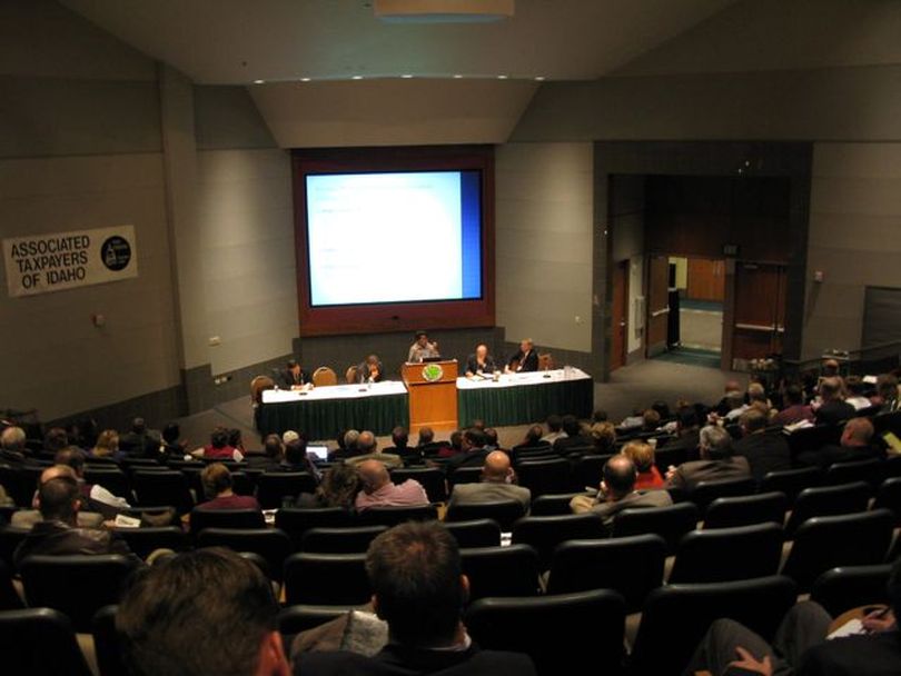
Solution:
[[[4,239],[3,264],[12,297],[137,277],[135,226]]]

